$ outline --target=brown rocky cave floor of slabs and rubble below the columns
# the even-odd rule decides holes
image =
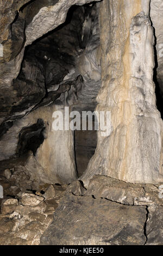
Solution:
[[[5,194],[0,199],[0,245],[163,244],[159,185],[95,175],[87,188],[77,180],[30,190],[27,176],[20,176],[19,170],[24,187],[18,181],[14,185],[12,169],[0,177]]]

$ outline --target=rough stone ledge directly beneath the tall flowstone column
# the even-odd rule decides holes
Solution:
[[[77,181],[73,182],[74,191],[77,191],[76,187]],[[127,205],[163,205],[162,199],[159,198],[159,184],[131,184],[108,176],[95,175],[86,188],[87,190],[83,188],[80,196],[106,198]]]

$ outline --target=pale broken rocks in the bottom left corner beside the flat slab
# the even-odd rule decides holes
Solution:
[[[35,195],[32,196],[33,199],[35,197],[38,198]],[[32,201],[30,197],[28,198],[28,205],[30,205]],[[15,205],[15,208],[12,208],[12,211],[10,209],[7,211],[6,209],[3,212],[2,208],[2,215],[0,215],[0,244],[39,245],[41,234],[53,219],[52,215],[44,214],[45,210],[46,204],[43,202],[37,206],[22,206],[19,203],[19,205]]]

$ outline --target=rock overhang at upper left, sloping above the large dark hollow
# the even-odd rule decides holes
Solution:
[[[24,112],[20,114],[21,111],[13,111],[15,102],[17,105],[22,103],[23,95],[20,97],[18,90],[12,87],[12,81],[20,72],[25,46],[64,23],[67,11],[72,5],[83,5],[91,1],[43,0],[40,2],[35,0],[32,3],[28,2],[26,0],[18,4],[14,0],[11,4],[0,6],[0,31],[3,31],[0,38],[3,46],[3,57],[0,57],[0,124],[24,114]],[[24,111],[30,111],[31,107],[33,104],[31,106],[29,101]]]

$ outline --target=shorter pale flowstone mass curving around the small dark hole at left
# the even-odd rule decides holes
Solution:
[[[16,155],[18,134],[23,127],[36,124],[38,119],[42,119],[45,123],[45,131],[43,132],[43,142],[36,150],[35,156],[31,155],[25,159],[24,166],[29,170],[34,180],[40,179],[47,183],[70,183],[77,179],[76,165],[74,162],[73,150],[73,132],[70,131],[54,131],[53,112],[59,110],[55,105],[49,107],[40,107],[27,115],[21,120],[15,121],[12,129],[10,129],[2,138],[0,143],[1,160]],[[62,111],[62,107],[60,109]],[[27,133],[29,138],[34,136],[33,131]],[[28,141],[23,138],[24,148],[28,147]],[[36,137],[36,141],[37,141]],[[12,142],[12,143],[11,143]],[[34,141],[35,142],[35,141]],[[35,142],[36,143],[36,142]],[[34,143],[34,144],[35,144]],[[6,145],[4,148],[4,144]],[[31,145],[31,141],[30,141]],[[33,150],[30,148],[30,150]],[[24,157],[25,158],[25,157]]]

